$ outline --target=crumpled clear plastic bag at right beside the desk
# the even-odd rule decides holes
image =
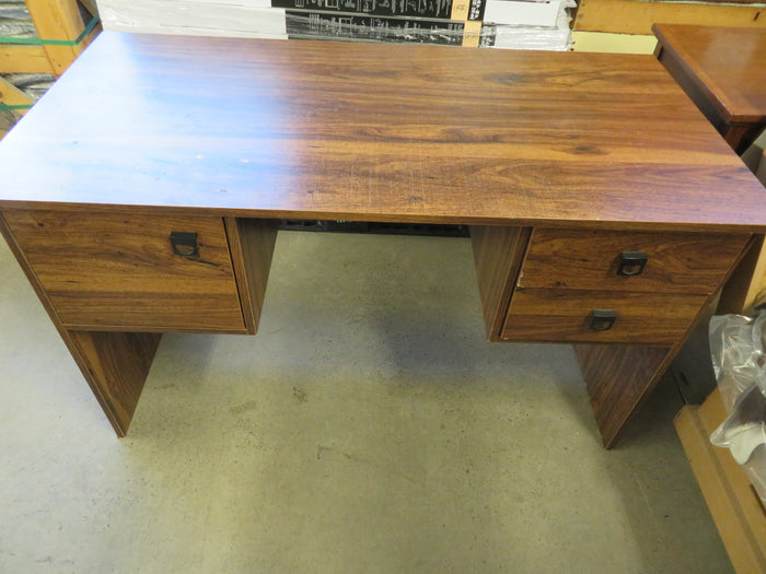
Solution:
[[[766,502],[766,313],[710,320],[710,353],[729,417],[710,442],[729,448]]]

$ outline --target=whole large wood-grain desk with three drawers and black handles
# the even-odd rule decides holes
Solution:
[[[0,173],[3,235],[119,435],[161,332],[256,331],[274,219],[472,225],[488,338],[577,343],[606,446],[766,231],[650,56],[104,33]]]

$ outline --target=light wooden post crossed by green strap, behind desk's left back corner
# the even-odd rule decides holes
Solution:
[[[85,30],[77,0],[26,0],[37,35],[45,39],[76,40]],[[54,74],[60,75],[84,46],[44,46]]]

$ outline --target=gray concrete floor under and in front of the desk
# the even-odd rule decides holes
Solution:
[[[603,450],[467,239],[280,234],[259,335],[165,336],[124,440],[0,269],[2,573],[731,572],[671,386]]]

